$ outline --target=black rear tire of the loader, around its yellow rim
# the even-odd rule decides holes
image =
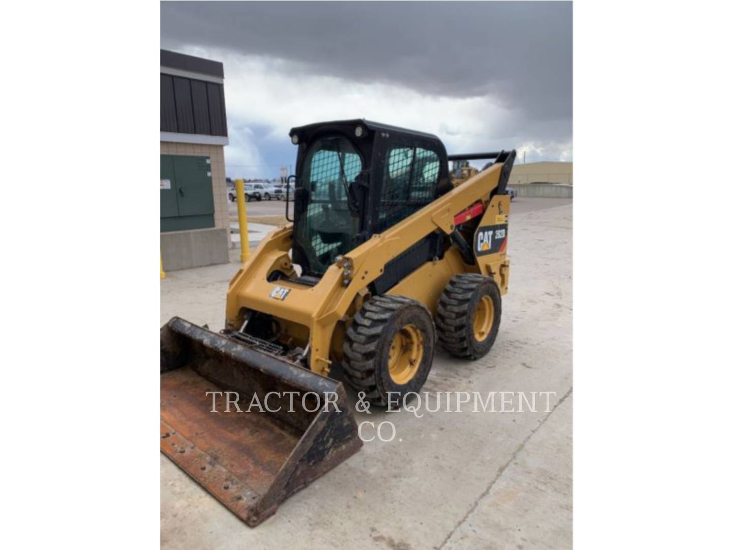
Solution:
[[[482,296],[493,304],[493,323],[485,340],[476,340],[474,315]],[[455,275],[438,300],[435,326],[438,340],[453,356],[479,359],[494,345],[501,323],[501,293],[491,277],[475,273]]]

